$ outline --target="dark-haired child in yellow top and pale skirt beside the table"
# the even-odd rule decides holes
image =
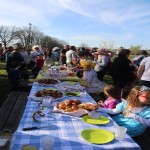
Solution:
[[[86,82],[86,91],[88,93],[96,93],[104,88],[104,83],[99,81],[97,74],[94,71],[95,63],[89,60],[89,56],[86,51],[79,51],[80,65],[77,65],[79,70],[83,71],[82,79]]]

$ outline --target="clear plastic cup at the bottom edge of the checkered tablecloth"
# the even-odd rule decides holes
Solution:
[[[43,150],[52,150],[54,138],[52,136],[44,136],[41,138],[41,145]]]

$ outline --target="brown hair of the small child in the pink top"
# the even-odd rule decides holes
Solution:
[[[114,99],[121,101],[121,89],[117,85],[106,85],[104,87],[104,93],[108,93]]]

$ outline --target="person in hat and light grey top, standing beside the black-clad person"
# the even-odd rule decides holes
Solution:
[[[103,80],[103,77],[105,76],[107,72],[107,65],[110,62],[110,57],[108,55],[108,52],[106,49],[98,49],[97,50],[98,59],[96,61],[96,65],[94,70],[97,73],[97,77],[100,81]]]

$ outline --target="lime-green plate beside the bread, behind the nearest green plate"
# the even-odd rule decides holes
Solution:
[[[90,118],[88,115],[82,117],[82,121],[90,124],[107,124],[110,120],[104,116],[100,116],[98,119]]]

